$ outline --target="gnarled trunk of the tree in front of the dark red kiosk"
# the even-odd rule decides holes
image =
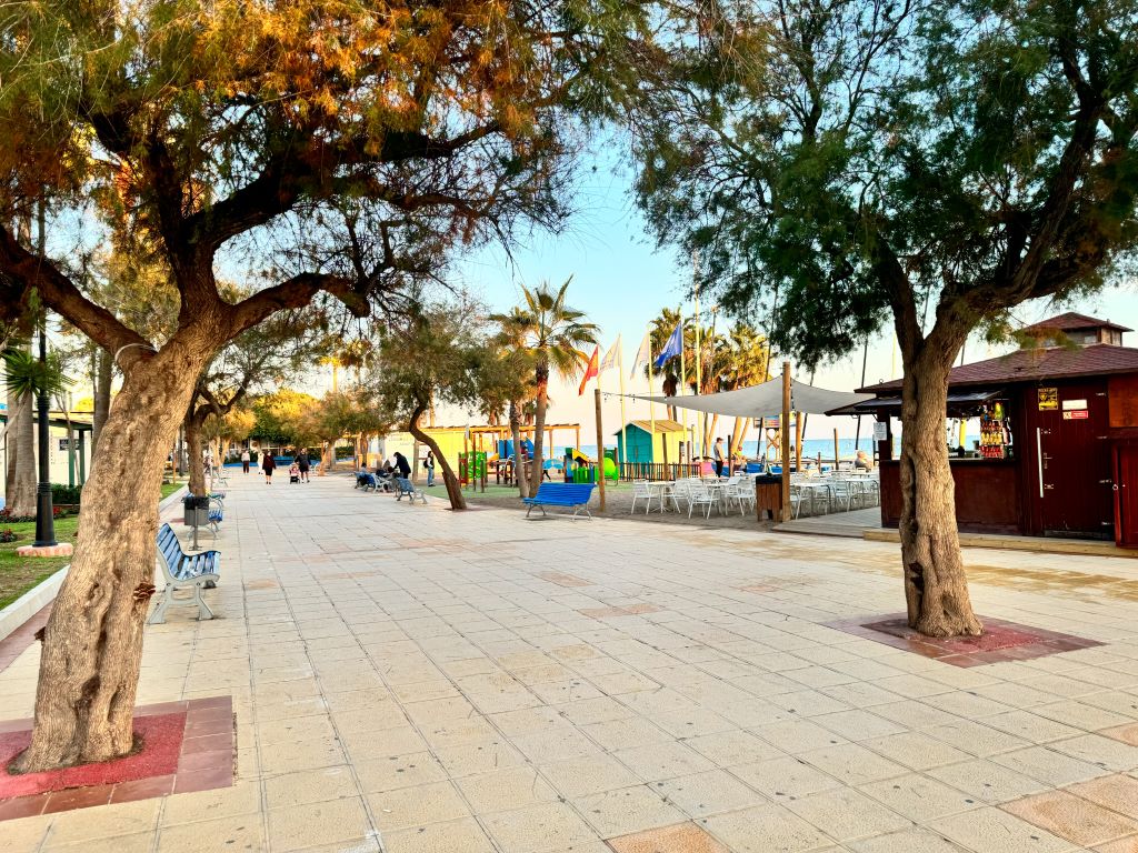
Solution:
[[[901,400],[901,560],[909,626],[931,637],[979,635],[956,529],[945,442],[948,374],[956,348],[925,343],[906,359]]]

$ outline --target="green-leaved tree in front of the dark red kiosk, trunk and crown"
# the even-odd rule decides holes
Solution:
[[[704,292],[807,364],[891,323],[909,623],[975,635],[943,440],[970,332],[1135,247],[1133,0],[683,3],[643,66],[637,193]],[[927,312],[927,314],[926,314]]]

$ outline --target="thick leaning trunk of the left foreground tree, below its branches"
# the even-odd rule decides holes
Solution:
[[[204,351],[171,342],[127,371],[83,488],[75,556],[44,631],[35,726],[18,772],[107,761],[133,745],[162,472],[204,363]]]

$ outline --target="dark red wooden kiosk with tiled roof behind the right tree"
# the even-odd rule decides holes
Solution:
[[[1028,326],[1020,349],[949,374],[948,419],[979,419],[957,447],[946,430],[965,532],[1113,539],[1138,547],[1138,349],[1131,331],[1082,314]],[[881,522],[898,525],[900,469],[891,458],[901,382],[832,414],[873,415]]]

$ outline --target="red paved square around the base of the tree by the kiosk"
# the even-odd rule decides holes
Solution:
[[[954,666],[982,666],[1008,661],[1031,661],[1059,652],[1073,652],[1079,648],[1103,645],[1098,640],[1048,631],[1003,619],[980,616],[980,621],[984,624],[984,632],[979,637],[942,638],[925,637],[913,630],[904,614],[892,614],[873,621],[866,621],[864,616],[861,619],[846,619],[827,622],[827,626],[893,648],[932,657]]]

